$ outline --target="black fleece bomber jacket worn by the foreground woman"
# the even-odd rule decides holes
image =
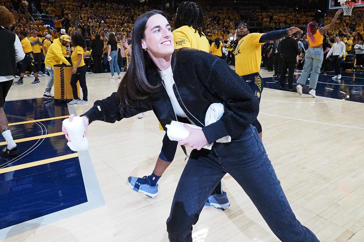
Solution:
[[[248,84],[225,61],[212,54],[182,48],[176,51],[175,58],[175,66],[172,66],[175,81],[173,90],[188,118],[202,127],[210,144],[227,135],[230,135],[232,140],[238,140],[259,112],[257,99]],[[147,67],[146,74],[151,85],[162,82],[154,64]],[[225,112],[220,120],[205,127],[206,111],[212,103],[222,103]],[[96,101],[94,107],[85,115],[89,116],[90,122],[102,120],[114,123],[153,110],[164,130],[167,130],[166,124],[177,119],[164,83],[158,89],[157,95],[142,100],[138,108],[121,111],[119,104],[115,93],[112,93],[110,97]],[[183,122],[179,117],[178,120]],[[165,161],[172,161],[177,145],[177,141],[169,140],[165,134],[159,157]],[[229,143],[214,143],[213,147],[221,150],[227,145]]]

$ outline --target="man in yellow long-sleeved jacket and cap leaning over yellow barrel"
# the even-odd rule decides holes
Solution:
[[[50,45],[46,60],[44,60],[44,64],[46,65],[46,68],[49,72],[49,78],[48,78],[48,84],[46,87],[46,90],[44,91],[43,98],[54,98],[54,96],[51,94],[54,76],[53,76],[53,66],[59,65],[62,62],[66,65],[71,65],[70,62],[64,58],[64,55],[67,54],[66,51],[66,45],[68,42],[71,42],[70,37],[67,35],[62,35],[60,38],[57,38],[53,41],[53,44]]]

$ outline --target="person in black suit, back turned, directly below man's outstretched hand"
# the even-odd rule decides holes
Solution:
[[[296,67],[297,63],[298,43],[296,40],[293,40],[291,34],[289,36],[286,36],[284,40],[281,41],[281,47],[283,57],[279,89],[285,89],[285,79],[288,67],[288,91],[294,91],[295,89],[293,89],[293,73],[294,67]]]

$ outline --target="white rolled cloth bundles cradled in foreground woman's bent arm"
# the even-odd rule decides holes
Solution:
[[[211,123],[215,123],[217,120],[221,119],[223,113],[224,113],[224,107],[221,103],[211,104],[206,112],[205,125],[207,126],[207,125],[210,125]],[[189,136],[190,132],[185,127],[183,127],[183,124],[185,124],[185,123],[181,123],[178,121],[172,121],[171,124],[166,125],[167,136],[170,140],[181,141],[181,140],[186,139]],[[202,129],[201,127],[198,127],[193,124],[186,123],[186,125],[188,125],[191,128],[196,128],[196,129],[200,129],[200,130]],[[227,143],[230,141],[231,141],[230,136],[225,136],[221,139],[216,140],[216,142],[218,142],[218,143]],[[213,144],[214,143],[208,144],[208,145],[204,146],[203,148],[211,150]]]

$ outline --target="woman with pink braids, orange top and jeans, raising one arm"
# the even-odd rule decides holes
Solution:
[[[317,28],[318,25],[316,22],[309,22],[307,25],[307,34],[303,37],[303,39],[308,40],[310,47],[305,54],[305,65],[301,76],[297,80],[296,89],[298,95],[302,95],[302,85],[306,85],[307,78],[310,76],[311,90],[309,91],[309,94],[316,98],[318,75],[320,74],[322,61],[324,60],[324,51],[322,48],[324,40],[323,34],[334,27],[337,18],[342,12],[343,9],[339,9],[331,23],[320,29]]]

